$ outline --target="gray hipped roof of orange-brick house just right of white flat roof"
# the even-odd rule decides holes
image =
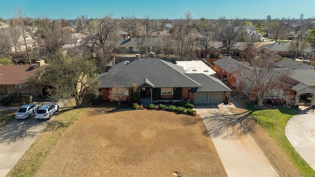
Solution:
[[[215,65],[218,65],[221,69],[228,73],[232,73],[235,71],[238,71],[244,67],[248,68],[247,65],[244,65],[234,59],[231,59],[229,57],[221,58],[220,60],[217,60],[213,62]]]

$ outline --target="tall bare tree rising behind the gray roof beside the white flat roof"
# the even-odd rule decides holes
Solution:
[[[218,20],[218,37],[225,45],[227,55],[229,55],[231,47],[244,35],[245,25],[245,21],[239,19],[228,21],[225,17],[221,17]]]

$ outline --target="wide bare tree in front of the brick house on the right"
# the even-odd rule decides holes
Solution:
[[[251,68],[243,67],[239,71],[244,93],[249,95],[252,102],[257,101],[258,108],[265,108],[265,99],[292,104],[292,98],[285,92],[289,86],[281,79],[289,75],[290,70],[275,69],[270,55],[260,54],[252,60]]]

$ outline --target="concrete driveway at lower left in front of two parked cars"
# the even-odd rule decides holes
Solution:
[[[31,146],[48,122],[30,119],[14,119],[0,130],[0,177],[5,177]]]

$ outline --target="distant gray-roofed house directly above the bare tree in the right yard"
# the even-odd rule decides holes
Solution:
[[[267,48],[269,53],[273,54],[273,55],[280,55],[282,57],[289,57],[290,56],[290,52],[289,52],[290,43],[291,43],[291,41],[284,42],[284,43],[276,42],[273,44],[261,46],[259,48],[260,49]]]

